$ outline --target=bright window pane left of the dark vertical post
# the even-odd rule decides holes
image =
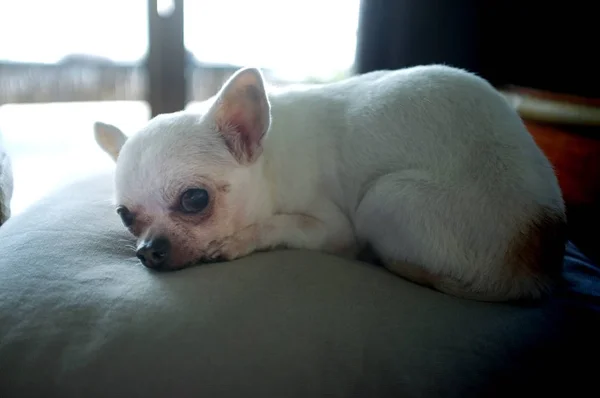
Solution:
[[[148,120],[147,30],[146,0],[2,2],[0,134],[14,214],[113,167],[95,145],[94,121],[135,129]]]

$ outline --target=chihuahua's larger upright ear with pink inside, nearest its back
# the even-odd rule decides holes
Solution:
[[[256,160],[271,125],[271,105],[262,73],[256,68],[234,73],[217,94],[209,114],[240,163]]]

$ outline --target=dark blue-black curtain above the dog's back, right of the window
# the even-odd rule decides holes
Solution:
[[[362,0],[355,72],[444,63],[493,84],[600,97],[591,1]]]

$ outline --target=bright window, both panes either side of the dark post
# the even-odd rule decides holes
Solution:
[[[148,94],[159,91],[149,70],[161,66],[147,58],[149,7],[169,18],[181,2],[183,27],[158,32],[183,29],[187,93],[175,94],[190,104],[246,65],[277,85],[350,73],[359,0],[3,1],[0,134],[13,160],[15,214],[62,184],[114,167],[93,140],[93,123],[131,133],[151,117]]]

